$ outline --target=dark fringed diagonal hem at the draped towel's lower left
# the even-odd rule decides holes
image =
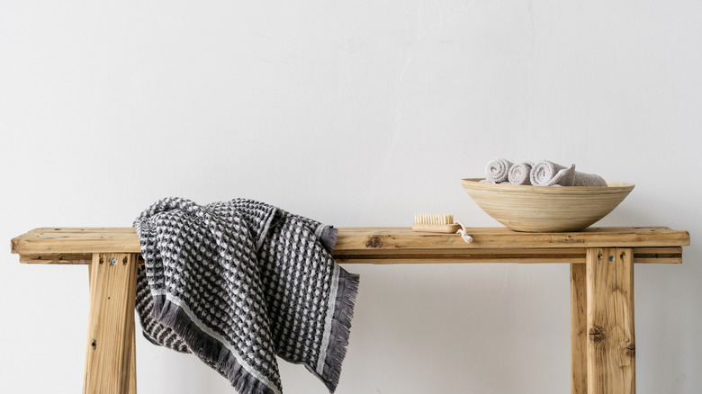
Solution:
[[[192,311],[180,300],[168,300],[166,295],[154,297],[155,318],[173,328],[191,353],[196,354],[210,367],[220,372],[240,394],[281,394],[275,384],[265,377],[254,376],[239,363],[236,355],[224,344],[216,333],[206,332],[209,328],[200,327]]]

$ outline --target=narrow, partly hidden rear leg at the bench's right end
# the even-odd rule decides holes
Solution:
[[[571,264],[571,394],[588,392],[585,264]]]

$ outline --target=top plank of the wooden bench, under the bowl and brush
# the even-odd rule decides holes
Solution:
[[[524,233],[508,228],[467,228],[473,243],[456,234],[416,232],[411,228],[339,228],[335,255],[477,249],[531,250],[587,247],[688,246],[688,231],[667,227],[587,228],[581,232]],[[134,228],[35,228],[12,240],[18,255],[56,253],[139,253]]]

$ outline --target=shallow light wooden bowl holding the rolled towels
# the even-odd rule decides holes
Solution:
[[[604,218],[635,184],[608,182],[608,187],[484,184],[481,178],[461,184],[479,207],[516,231],[580,231]]]

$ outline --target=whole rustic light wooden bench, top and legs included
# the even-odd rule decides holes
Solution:
[[[518,233],[339,228],[340,264],[571,264],[572,393],[635,393],[634,263],[680,264],[689,233],[665,227]],[[133,228],[37,228],[12,240],[27,264],[88,264],[84,393],[135,393],[134,298],[143,264]]]

